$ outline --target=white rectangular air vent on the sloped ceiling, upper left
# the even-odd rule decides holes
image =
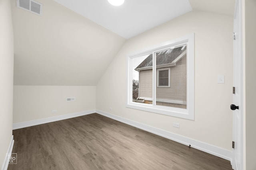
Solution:
[[[17,0],[17,7],[42,16],[43,5],[34,0]]]

